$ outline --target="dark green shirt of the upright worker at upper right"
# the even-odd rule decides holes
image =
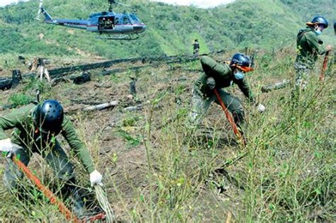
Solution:
[[[325,49],[318,43],[318,35],[311,27],[306,27],[298,32],[296,48],[298,50],[296,62],[301,62],[309,68],[313,68],[318,55],[325,53]]]

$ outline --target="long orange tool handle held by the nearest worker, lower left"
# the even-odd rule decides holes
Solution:
[[[23,173],[30,179],[30,181],[32,181],[36,185],[36,187],[43,193],[43,195],[45,195],[45,197],[50,200],[52,205],[57,205],[58,210],[60,210],[60,212],[65,215],[65,218],[68,221],[79,223],[79,219],[77,219],[76,215],[72,214],[72,212],[67,209],[65,204],[58,200],[57,197],[48,188],[46,188],[45,185],[41,183],[41,181],[30,171],[30,169],[25,164],[23,164],[18,158],[16,158],[16,156],[13,156],[12,160],[18,166],[18,168],[20,168],[21,171],[23,171]]]

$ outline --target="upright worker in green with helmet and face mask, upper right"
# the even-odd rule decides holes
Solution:
[[[308,84],[310,73],[315,67],[318,55],[332,50],[331,45],[323,47],[323,42],[318,39],[318,35],[323,33],[329,23],[322,16],[315,16],[310,23],[306,23],[307,27],[298,32],[296,38],[296,90],[304,90]]]

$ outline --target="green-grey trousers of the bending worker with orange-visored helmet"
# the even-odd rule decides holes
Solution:
[[[235,123],[240,126],[244,122],[244,110],[242,108],[242,103],[238,98],[232,96],[228,92],[223,91],[222,89],[218,89],[217,91],[226,108],[228,108],[230,113],[233,113]],[[210,108],[211,102],[213,101],[215,101],[215,103],[218,105],[220,104],[217,97],[215,96],[215,93],[207,98],[204,98],[204,96],[202,96],[197,91],[197,89],[194,88],[191,114],[189,117],[192,125],[196,126],[201,123],[204,116],[206,115],[206,112]]]

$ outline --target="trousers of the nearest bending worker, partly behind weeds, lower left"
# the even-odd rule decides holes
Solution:
[[[26,166],[30,161],[33,152],[37,152],[47,161],[47,164],[54,171],[55,176],[62,182],[70,182],[74,180],[74,167],[69,163],[69,159],[65,151],[56,142],[55,147],[45,149],[45,151],[29,151],[28,149],[18,149],[15,154],[20,161]],[[18,181],[23,178],[23,173],[18,169],[18,166],[9,159],[4,173],[4,185],[8,190],[15,190],[18,188]]]

